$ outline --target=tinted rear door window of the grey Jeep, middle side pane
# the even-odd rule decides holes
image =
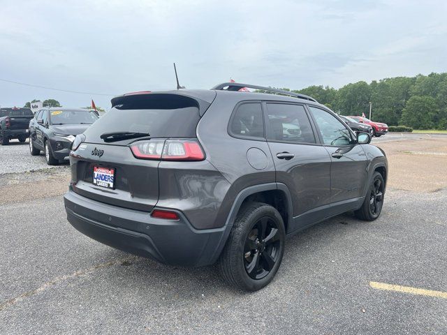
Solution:
[[[305,107],[302,105],[268,103],[267,110],[271,129],[269,140],[316,142]]]

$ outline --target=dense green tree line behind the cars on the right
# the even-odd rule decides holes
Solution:
[[[287,89],[290,91],[290,89]],[[355,82],[340,89],[310,86],[293,90],[315,98],[342,115],[369,116],[388,126],[447,129],[447,73]]]

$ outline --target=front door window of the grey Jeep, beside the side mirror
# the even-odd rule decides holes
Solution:
[[[351,133],[336,117],[320,108],[309,106],[309,110],[318,125],[324,144],[335,146],[351,144]]]

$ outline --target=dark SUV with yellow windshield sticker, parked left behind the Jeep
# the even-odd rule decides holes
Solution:
[[[75,136],[83,133],[98,119],[94,110],[52,107],[39,110],[29,121],[29,152],[45,153],[48,165],[68,158]]]

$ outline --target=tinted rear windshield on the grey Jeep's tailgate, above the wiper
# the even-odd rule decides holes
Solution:
[[[103,142],[103,133],[149,133],[150,137],[196,137],[198,103],[176,94],[129,96],[90,126],[87,141]]]

